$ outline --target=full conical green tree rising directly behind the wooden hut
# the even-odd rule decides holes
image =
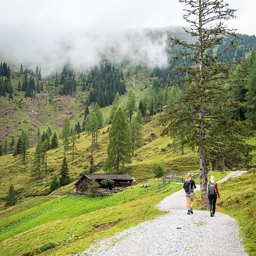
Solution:
[[[131,131],[120,106],[114,114],[108,136],[105,167],[108,172],[120,173],[124,164],[131,163],[132,157]]]

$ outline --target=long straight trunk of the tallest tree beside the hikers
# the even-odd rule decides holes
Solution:
[[[204,92],[204,77],[203,77],[203,36],[202,36],[202,0],[199,0],[199,78],[200,78],[200,89],[202,90],[202,94]],[[199,98],[200,100],[200,98]],[[203,102],[201,102],[202,104]],[[205,139],[205,126],[204,126],[204,109],[201,105],[199,110],[199,139],[201,142]],[[206,186],[207,186],[207,165],[206,165],[206,159],[205,159],[205,150],[204,147],[201,146],[198,149],[199,153],[199,179],[200,179],[200,188],[201,188],[201,197],[202,197],[202,203],[204,208],[209,207],[209,200],[207,198],[206,194]]]

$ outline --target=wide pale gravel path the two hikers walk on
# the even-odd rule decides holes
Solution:
[[[218,183],[243,173],[230,173]],[[160,210],[172,212],[101,240],[75,255],[248,255],[241,244],[236,221],[218,212],[215,217],[210,217],[207,211],[197,210],[193,215],[187,215],[183,190],[166,197],[157,206]]]

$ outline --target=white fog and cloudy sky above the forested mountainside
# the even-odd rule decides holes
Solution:
[[[230,8],[240,5],[227,2]],[[21,62],[28,68],[41,65],[44,74],[61,69],[67,61],[79,69],[98,64],[102,58],[115,63],[129,59],[132,64],[167,65],[168,34],[183,35],[182,26],[186,26],[181,18],[184,6],[174,0],[74,0],[72,4],[65,0],[0,0],[0,4],[4,10],[0,59],[17,68]],[[239,6],[238,20],[231,27],[246,33],[251,24],[239,28],[239,20],[246,17],[249,14]]]

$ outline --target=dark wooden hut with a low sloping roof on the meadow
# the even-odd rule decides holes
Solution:
[[[102,180],[110,179],[114,181],[112,187],[121,188],[134,185],[134,178],[127,174],[101,174],[101,173],[87,173],[84,174],[76,183],[74,193],[85,193],[88,191],[88,185],[91,180],[95,180],[99,185]],[[109,189],[112,189],[109,188]]]

